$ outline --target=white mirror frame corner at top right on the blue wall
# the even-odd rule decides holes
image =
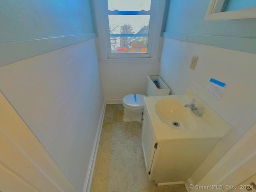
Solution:
[[[216,6],[219,6],[221,3],[223,5],[224,0],[211,0],[204,20],[211,21],[256,18],[256,8],[213,13]]]

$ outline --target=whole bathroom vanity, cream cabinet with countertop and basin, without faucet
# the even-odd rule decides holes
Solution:
[[[205,108],[202,117],[184,107],[192,98]],[[216,158],[214,146],[232,130],[190,90],[185,95],[144,97],[144,102],[142,145],[146,172],[157,184],[174,184],[191,178],[205,159],[206,163],[211,161],[206,158],[208,154]],[[180,128],[174,122],[179,122]]]

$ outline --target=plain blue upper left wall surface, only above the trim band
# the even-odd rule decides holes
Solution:
[[[88,0],[2,0],[0,42],[92,33]]]

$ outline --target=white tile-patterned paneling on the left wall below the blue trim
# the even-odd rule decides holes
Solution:
[[[82,191],[104,104],[95,41],[0,67],[0,89]]]

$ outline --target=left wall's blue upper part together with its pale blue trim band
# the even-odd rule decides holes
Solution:
[[[94,38],[93,33],[90,0],[2,0],[0,66]]]

